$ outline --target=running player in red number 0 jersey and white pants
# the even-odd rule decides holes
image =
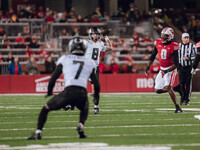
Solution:
[[[176,95],[172,89],[175,81],[177,66],[178,66],[178,50],[179,44],[172,41],[174,31],[172,28],[166,27],[161,32],[161,39],[156,39],[154,42],[154,50],[151,54],[150,61],[146,68],[145,75],[148,76],[149,69],[158,54],[160,71],[155,80],[155,92],[158,94],[168,92],[175,107],[175,113],[183,112],[176,100]]]

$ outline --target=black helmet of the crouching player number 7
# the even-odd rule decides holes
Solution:
[[[86,47],[81,37],[71,39],[68,46],[71,54],[85,54]]]

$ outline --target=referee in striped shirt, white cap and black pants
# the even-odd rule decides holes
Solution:
[[[182,43],[179,43],[180,50],[178,51],[179,66],[178,66],[178,77],[179,85],[174,87],[174,90],[179,92],[181,95],[180,105],[190,104],[190,94],[192,91],[192,62],[195,59],[197,53],[194,44],[189,43],[190,36],[188,33],[182,34]]]

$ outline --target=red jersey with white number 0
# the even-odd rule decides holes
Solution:
[[[172,41],[169,45],[163,45],[161,39],[156,39],[154,45],[158,51],[160,66],[170,67],[173,65],[172,54],[180,49],[179,44]]]

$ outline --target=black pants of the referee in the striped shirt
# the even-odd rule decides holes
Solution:
[[[178,67],[179,85],[181,86],[181,102],[189,102],[192,91],[192,67]]]

